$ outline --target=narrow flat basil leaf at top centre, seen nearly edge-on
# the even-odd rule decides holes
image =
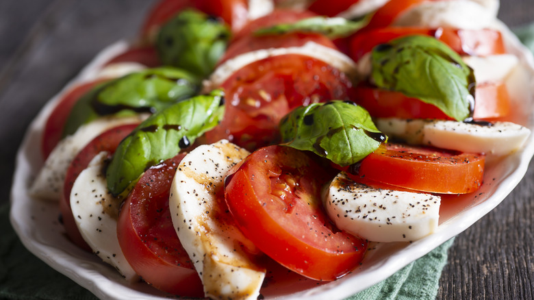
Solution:
[[[361,18],[358,21],[350,21],[340,17],[328,18],[326,16],[314,16],[296,23],[279,24],[258,29],[255,35],[265,36],[270,34],[287,34],[290,32],[314,32],[323,34],[328,38],[344,38],[367,25],[369,20],[369,16]]]

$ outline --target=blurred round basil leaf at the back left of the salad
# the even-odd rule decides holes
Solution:
[[[207,77],[225,53],[230,30],[198,10],[183,10],[157,36],[156,49],[163,64]]]

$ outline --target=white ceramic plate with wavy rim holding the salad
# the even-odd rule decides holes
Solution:
[[[520,99],[517,99],[522,109],[517,116],[514,116],[514,121],[534,131],[534,123],[531,119],[534,102],[534,69],[532,68],[534,60],[531,53],[520,45],[515,36],[507,29],[504,30],[508,49],[518,55],[520,63],[528,68],[526,70],[528,88],[522,92]],[[108,58],[120,53],[126,47],[127,42],[118,42],[102,51],[71,84],[94,77]],[[60,95],[66,89],[60,92]],[[102,299],[168,299],[168,295],[147,284],[125,282],[113,268],[100,262],[95,255],[78,249],[66,238],[64,229],[58,222],[58,204],[31,199],[27,194],[29,184],[42,166],[39,153],[42,127],[60,95],[52,99],[31,123],[21,149],[18,151],[10,214],[16,233],[29,251],[51,267],[71,277],[97,297]],[[533,154],[534,140],[531,136],[522,151],[509,155],[498,163],[488,164],[484,184],[479,192],[474,195],[453,196],[454,199],[442,201],[440,226],[435,234],[411,244],[394,242],[373,245],[361,267],[335,282],[318,284],[298,275],[288,275],[288,272],[280,271],[281,275],[275,275],[275,279],[262,288],[262,295],[266,299],[307,297],[308,299],[334,300],[351,296],[355,292],[380,282],[403,266],[429,253],[446,240],[463,232],[495,208],[520,182]]]

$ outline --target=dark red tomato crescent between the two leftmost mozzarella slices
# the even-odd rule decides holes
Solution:
[[[120,141],[123,140],[123,138],[125,138],[137,125],[138,124],[120,125],[103,132],[89,142],[84,149],[81,149],[67,168],[63,192],[61,193],[60,198],[60,212],[68,238],[81,249],[91,251],[89,245],[87,245],[84,238],[81,237],[74,221],[73,212],[71,211],[71,190],[73,189],[73,184],[79,173],[84,171],[84,168],[88,166],[94,156],[101,151],[114,153]]]

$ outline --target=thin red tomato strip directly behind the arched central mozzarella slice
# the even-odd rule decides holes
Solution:
[[[329,38],[320,34],[303,34],[296,32],[292,34],[276,34],[272,36],[249,35],[232,42],[218,64],[223,64],[223,62],[235,58],[240,54],[255,50],[301,47],[307,42],[315,42],[325,47],[338,49]]]

